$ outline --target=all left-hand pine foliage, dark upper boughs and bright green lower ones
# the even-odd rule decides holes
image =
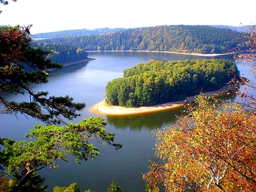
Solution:
[[[19,191],[36,171],[46,166],[56,169],[56,160],[68,161],[68,154],[75,157],[76,163],[94,159],[99,151],[90,144],[90,139],[121,147],[114,143],[114,133],[105,132],[102,117],[66,123],[80,115],[84,103],[76,103],[70,96],[48,96],[47,92],[32,90],[31,84],[47,83],[50,70],[62,66],[47,59],[49,51],[30,47],[29,29],[30,26],[0,28],[0,106],[2,113],[25,114],[46,126],[35,125],[26,135],[26,141],[0,138],[0,179],[7,181],[6,175],[19,178],[12,180],[15,182],[7,191]],[[28,101],[9,101],[8,94],[23,94]]]

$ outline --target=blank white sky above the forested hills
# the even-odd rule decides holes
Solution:
[[[255,0],[8,0],[0,25],[28,26],[32,34],[69,29],[162,25],[256,24]]]

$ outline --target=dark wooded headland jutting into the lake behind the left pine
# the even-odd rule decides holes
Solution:
[[[85,50],[68,45],[46,44],[34,41],[32,42],[31,46],[34,48],[40,48],[42,50],[50,50],[48,59],[58,63],[74,62],[81,59],[87,59],[88,56],[88,53]]]

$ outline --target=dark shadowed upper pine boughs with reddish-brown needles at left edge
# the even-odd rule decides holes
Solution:
[[[20,112],[45,123],[63,123],[63,118],[78,117],[84,103],[73,102],[70,96],[50,96],[47,92],[35,93],[30,84],[45,84],[50,69],[61,65],[47,59],[49,51],[33,49],[29,43],[28,27],[2,26],[0,28],[0,103],[3,112]],[[29,102],[8,101],[3,93],[27,95]]]

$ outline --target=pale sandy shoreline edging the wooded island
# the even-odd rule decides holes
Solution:
[[[222,93],[230,92],[233,89],[233,86],[224,86],[221,87],[219,90],[206,92],[207,96],[219,96]],[[108,105],[105,100],[98,102],[96,105],[93,105],[90,108],[90,112],[94,114],[105,114],[105,115],[127,115],[127,114],[145,114],[145,113],[152,113],[156,111],[167,111],[173,108],[180,108],[187,103],[193,102],[195,96],[187,97],[183,101],[178,102],[168,102],[161,105],[153,105],[153,106],[145,106],[139,108],[125,108],[120,106]]]

